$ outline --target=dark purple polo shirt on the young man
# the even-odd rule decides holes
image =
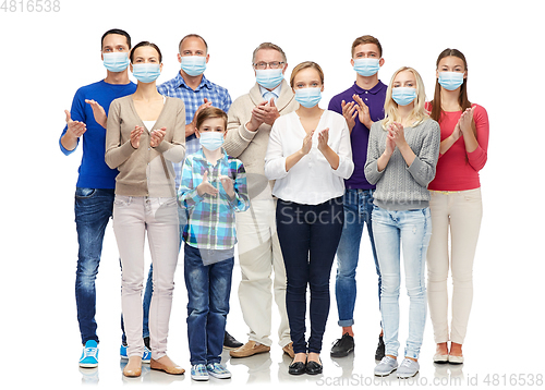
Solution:
[[[386,90],[388,87],[378,81],[378,84],[371,89],[363,89],[358,84],[352,85],[347,90],[336,95],[329,101],[328,109],[338,112],[342,115],[342,100],[347,103],[354,101],[352,95],[358,95],[363,102],[370,108],[370,115],[373,122],[384,119],[384,101],[386,100]],[[372,190],[374,185],[370,184],[365,179],[363,168],[367,160],[367,143],[370,139],[370,129],[360,122],[355,117],[355,125],[350,135],[352,144],[352,160],[354,161],[354,172],[344,180],[344,186],[351,190]]]

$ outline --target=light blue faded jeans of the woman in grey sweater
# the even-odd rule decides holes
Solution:
[[[387,355],[398,355],[400,247],[403,248],[405,287],[409,294],[409,337],[404,356],[419,358],[426,324],[426,252],[432,235],[429,208],[390,211],[373,209],[373,233],[383,276],[380,312]]]

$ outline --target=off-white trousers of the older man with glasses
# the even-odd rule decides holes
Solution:
[[[278,343],[290,343],[286,312],[286,269],[276,232],[276,200],[252,199],[250,209],[237,212],[237,240],[242,280],[239,300],[250,340],[270,346],[272,291],[280,314]],[[271,273],[275,276],[271,279]]]

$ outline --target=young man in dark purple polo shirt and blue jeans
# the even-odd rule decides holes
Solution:
[[[363,173],[367,159],[367,142],[371,125],[384,118],[384,101],[387,86],[378,80],[378,70],[384,64],[380,42],[371,35],[359,37],[352,44],[350,60],[356,72],[355,83],[347,90],[331,98],[329,110],[344,115],[350,130],[354,172],[344,181],[344,227],[337,249],[337,277],[335,295],[342,337],[331,348],[331,356],[347,356],[354,349],[354,306],[356,295],[355,269],[360,254],[363,227],[367,226],[376,272],[378,275],[378,298],[380,300],[380,270],[373,240],[371,215],[373,211],[374,185]],[[384,342],[380,333],[375,358],[384,357]]]

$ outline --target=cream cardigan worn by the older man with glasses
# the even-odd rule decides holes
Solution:
[[[252,118],[252,109],[262,101],[264,99],[257,83],[250,89],[250,94],[242,95],[233,101],[229,109],[227,137],[223,144],[227,154],[238,158],[244,164],[251,199],[257,195],[259,198],[272,196],[274,181],[269,183],[265,176],[265,154],[267,153],[271,126],[263,123],[255,132],[245,127]],[[286,80],[282,80],[280,96],[275,105],[281,115],[299,108],[295,95]]]

